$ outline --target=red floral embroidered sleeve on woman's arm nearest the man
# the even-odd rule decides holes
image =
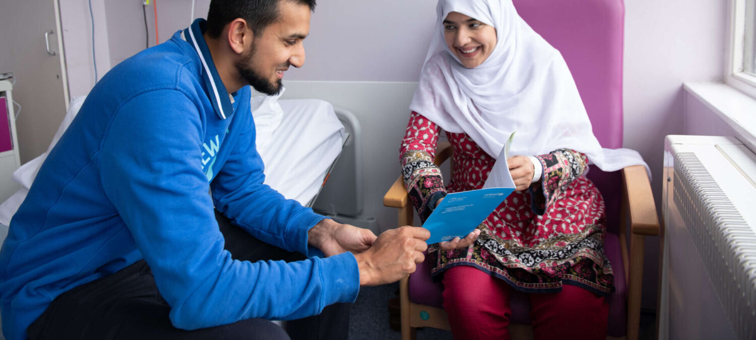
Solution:
[[[446,196],[441,170],[433,163],[440,132],[434,122],[413,112],[399,150],[404,187],[423,222]]]

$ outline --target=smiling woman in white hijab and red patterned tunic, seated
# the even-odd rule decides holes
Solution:
[[[517,187],[477,239],[429,246],[426,275],[443,283],[454,338],[510,338],[515,290],[528,293],[534,338],[606,338],[614,272],[603,196],[585,173],[589,161],[614,171],[643,160],[602,149],[564,58],[511,0],[440,0],[436,14],[400,148],[407,196],[425,220],[446,193],[481,189],[494,164]],[[442,130],[448,185],[433,156]],[[498,157],[513,131],[513,156]]]

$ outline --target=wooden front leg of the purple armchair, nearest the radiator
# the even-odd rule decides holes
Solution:
[[[637,340],[640,329],[640,295],[643,285],[643,235],[630,238],[630,273],[627,287],[627,339]]]

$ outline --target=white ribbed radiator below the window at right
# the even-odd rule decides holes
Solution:
[[[756,338],[756,155],[668,136],[659,338]]]

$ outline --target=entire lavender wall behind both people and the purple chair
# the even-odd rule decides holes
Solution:
[[[156,1],[162,42],[187,26],[191,2]],[[98,54],[98,63],[115,65],[141,50],[144,46],[141,0],[95,2],[104,4],[104,11],[95,10],[95,17],[107,19],[109,46],[107,53]],[[82,69],[82,65],[91,63],[91,57],[86,56],[86,49],[91,48],[86,42],[90,37],[83,30],[88,25],[83,21],[88,22],[88,14],[78,13],[85,3],[85,0],[61,2],[61,12],[70,14],[64,15],[64,34],[72,95],[85,89],[85,79],[91,78]],[[197,0],[195,17],[204,17],[208,5],[209,0]],[[640,151],[649,162],[657,179],[652,187],[659,206],[662,187],[658,178],[662,178],[664,137],[683,133],[682,83],[723,78],[727,2],[632,0],[625,6],[624,146]],[[435,0],[386,0],[380,6],[367,1],[321,0],[311,20],[311,36],[305,40],[305,67],[290,70],[287,79],[417,81],[429,42],[434,7]],[[147,21],[153,45],[151,8]],[[75,29],[81,32],[70,34]],[[76,46],[73,53],[70,44]],[[386,119],[398,119],[393,117]],[[647,240],[643,307],[655,308],[658,239]]]

